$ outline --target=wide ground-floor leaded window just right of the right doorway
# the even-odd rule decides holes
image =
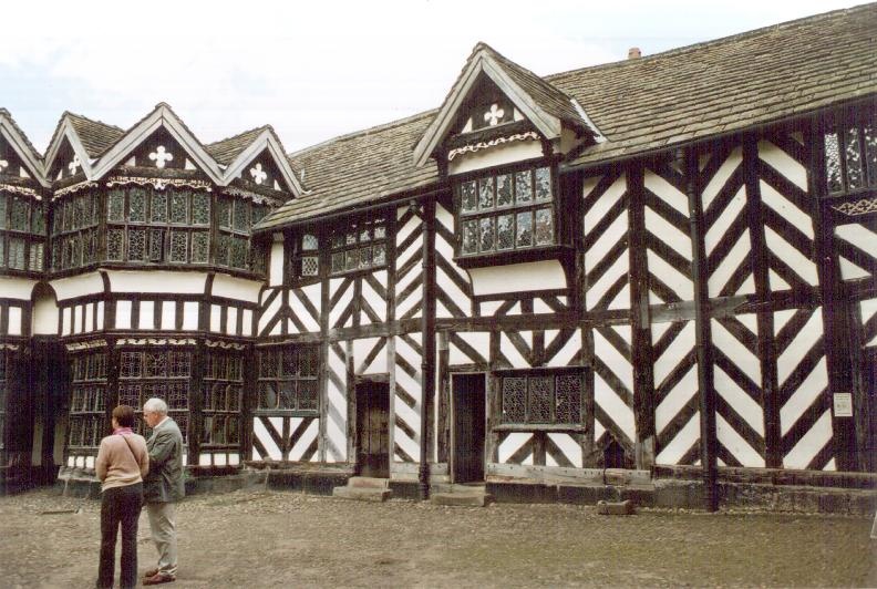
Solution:
[[[499,379],[503,423],[569,424],[582,422],[584,375],[580,371],[543,370]]]

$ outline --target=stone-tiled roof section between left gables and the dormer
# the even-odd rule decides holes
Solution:
[[[262,219],[258,228],[269,229],[364,203],[380,203],[435,183],[438,178],[435,162],[416,167],[411,157],[411,146],[434,114],[435,111],[430,111],[291,154],[289,162],[302,179],[305,196],[286,203]]]

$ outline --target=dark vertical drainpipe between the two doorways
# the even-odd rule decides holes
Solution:
[[[417,480],[420,499],[430,498],[430,451],[432,444],[433,397],[435,396],[435,200],[423,203],[423,316],[421,333],[421,455]]]

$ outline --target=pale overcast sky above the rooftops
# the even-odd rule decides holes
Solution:
[[[65,110],[128,128],[158,102],[204,143],[268,123],[292,152],[438,106],[478,41],[550,74],[859,3],[17,1],[0,106],[40,152]]]

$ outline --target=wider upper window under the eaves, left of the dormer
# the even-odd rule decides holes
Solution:
[[[386,265],[386,220],[383,217],[352,221],[331,235],[332,275]]]

